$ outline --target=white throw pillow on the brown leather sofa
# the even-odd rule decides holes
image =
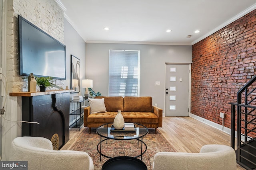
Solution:
[[[90,108],[91,108],[91,114],[93,113],[105,113],[106,107],[104,98],[102,99],[88,99]]]

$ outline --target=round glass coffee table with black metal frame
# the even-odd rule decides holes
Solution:
[[[112,140],[133,140],[136,139],[141,143],[140,147],[140,154],[137,156],[134,156],[134,158],[137,158],[140,156],[140,160],[142,160],[142,155],[147,150],[147,145],[145,142],[143,142],[143,137],[148,134],[148,128],[144,125],[140,125],[138,123],[134,123],[135,129],[133,130],[116,130],[113,127],[113,123],[106,123],[104,125],[101,125],[96,129],[96,133],[100,135],[100,142],[97,145],[97,150],[100,153],[100,161],[101,156],[104,156],[106,158],[112,158],[110,156],[107,156],[106,154],[102,153],[102,142],[106,141],[106,144],[108,144],[108,139]],[[146,149],[142,150],[142,145],[146,147]]]

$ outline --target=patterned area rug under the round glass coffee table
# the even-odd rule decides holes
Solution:
[[[143,137],[143,141],[147,145],[147,150],[142,155],[142,161],[146,164],[148,170],[152,170],[154,155],[157,152],[176,152],[164,136],[159,131],[157,131],[157,134],[154,134],[154,129],[152,128],[149,129],[148,135]],[[100,161],[100,154],[96,148],[99,142],[100,136],[96,134],[96,128],[92,128],[91,133],[89,133],[89,128],[86,128],[70,150],[87,152],[93,159],[94,170],[101,170],[102,165],[108,158],[102,156]],[[105,141],[102,143],[102,153],[110,157],[137,156],[140,154],[140,149],[141,143],[138,145],[137,140],[108,140],[108,144]],[[144,145],[142,150],[145,150]],[[138,158],[140,159],[140,157]]]

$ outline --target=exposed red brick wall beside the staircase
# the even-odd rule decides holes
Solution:
[[[256,10],[192,46],[191,113],[230,128],[236,93],[256,73]]]

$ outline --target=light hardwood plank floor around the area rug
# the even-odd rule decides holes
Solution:
[[[82,127],[81,131],[85,127]],[[78,128],[70,129],[70,140],[62,147],[68,150],[79,137]],[[158,128],[177,152],[199,152],[203,145],[230,146],[230,135],[192,117],[163,117],[163,127]],[[237,164],[237,170],[245,170]]]

